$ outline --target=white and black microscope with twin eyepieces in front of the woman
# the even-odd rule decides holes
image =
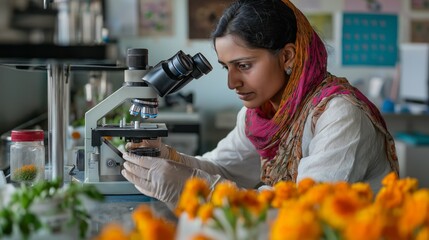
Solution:
[[[148,66],[148,50],[127,50],[127,69],[124,84],[85,114],[84,183],[93,184],[103,194],[139,194],[133,184],[122,175],[122,152],[108,139],[121,137],[126,142],[167,137],[164,123],[147,121],[158,115],[158,97],[164,97],[184,87],[212,70],[207,59],[197,53],[194,56],[178,51],[154,67]],[[119,105],[130,101],[129,113],[141,116],[142,122],[103,124],[102,119]],[[157,148],[141,148],[136,154],[158,156]]]

